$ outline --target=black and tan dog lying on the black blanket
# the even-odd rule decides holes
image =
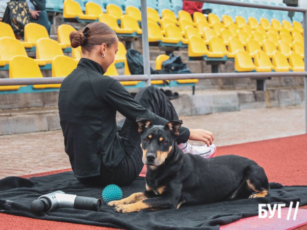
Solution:
[[[176,143],[181,121],[153,126],[139,119],[138,124],[143,163],[147,165],[146,191],[108,202],[116,212],[179,209],[182,204],[269,196],[266,173],[253,160],[236,155],[206,159],[184,154]]]

